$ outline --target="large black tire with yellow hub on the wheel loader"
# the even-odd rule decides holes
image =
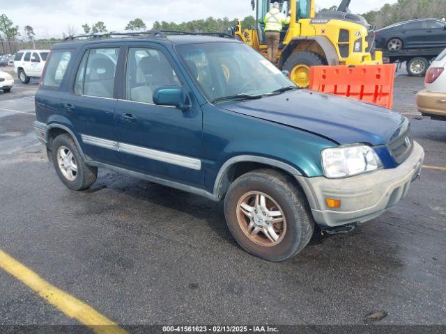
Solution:
[[[310,51],[298,52],[289,56],[284,70],[290,72],[290,78],[300,87],[309,86],[309,67],[324,65],[323,58]]]

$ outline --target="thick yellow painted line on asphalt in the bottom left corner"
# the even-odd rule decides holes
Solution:
[[[10,273],[10,275],[20,280],[20,282],[33,289],[37,294],[45,299],[51,305],[61,310],[63,313],[73,319],[76,319],[81,324],[88,326],[94,333],[97,334],[127,334],[123,328],[119,327],[112,320],[98,311],[91,308],[89,305],[82,303],[79,299],[70,296],[61,289],[49,284],[43,278],[40,278],[37,273],[31,269],[26,268],[20,262],[10,257],[8,254],[0,250],[0,268]]]

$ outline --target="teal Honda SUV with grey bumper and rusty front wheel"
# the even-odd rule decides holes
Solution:
[[[224,199],[233,237],[270,261],[299,253],[315,224],[348,232],[383,214],[424,159],[407,118],[300,90],[226,38],[63,42],[35,100],[34,131],[69,189],[109,168]]]

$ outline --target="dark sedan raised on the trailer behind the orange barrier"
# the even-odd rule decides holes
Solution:
[[[446,47],[446,23],[440,19],[413,19],[376,31],[376,47],[388,51]]]

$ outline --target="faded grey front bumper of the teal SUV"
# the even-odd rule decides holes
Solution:
[[[422,169],[424,150],[415,141],[413,145],[412,154],[397,168],[336,180],[297,176],[316,223],[327,228],[364,223],[396,205],[406,196],[410,183]],[[340,200],[341,207],[329,208],[325,203],[327,198]]]

